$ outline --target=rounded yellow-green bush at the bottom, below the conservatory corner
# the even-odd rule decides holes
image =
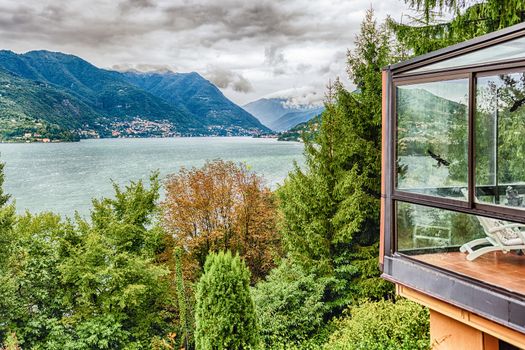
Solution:
[[[365,302],[335,322],[326,350],[430,349],[428,310],[399,299]]]

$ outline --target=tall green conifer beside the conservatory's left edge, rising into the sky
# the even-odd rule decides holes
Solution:
[[[279,189],[283,241],[307,270],[336,276],[328,299],[337,308],[361,297],[381,298],[381,69],[389,63],[389,33],[367,12],[348,53],[357,90],[329,86],[319,131],[305,137],[306,170],[296,168]]]

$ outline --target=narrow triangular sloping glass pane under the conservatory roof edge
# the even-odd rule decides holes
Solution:
[[[525,37],[480,49],[448,60],[411,70],[410,73],[436,69],[471,66],[485,62],[497,62],[525,57]]]

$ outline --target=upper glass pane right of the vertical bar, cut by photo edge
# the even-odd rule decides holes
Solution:
[[[525,209],[525,73],[477,79],[477,202]]]

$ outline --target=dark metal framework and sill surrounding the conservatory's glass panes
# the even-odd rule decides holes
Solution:
[[[387,74],[384,94],[387,98],[387,111],[384,127],[387,128],[385,134],[387,144],[384,154],[384,166],[386,168],[383,171],[386,171],[387,175],[385,193],[383,194],[385,199],[384,260],[381,267],[382,277],[387,280],[407,285],[525,333],[525,295],[515,294],[504,288],[428,265],[410,256],[398,253],[396,217],[396,202],[399,201],[525,224],[525,210],[476,203],[474,198],[476,188],[475,107],[477,77],[512,73],[517,70],[525,72],[525,58],[410,73],[415,68],[497,45],[521,36],[525,36],[525,23],[385,67],[384,70]],[[457,77],[467,77],[468,79],[468,200],[459,202],[447,198],[396,190],[396,86],[416,82],[451,80]]]

